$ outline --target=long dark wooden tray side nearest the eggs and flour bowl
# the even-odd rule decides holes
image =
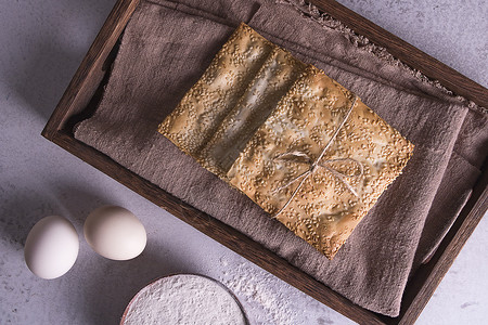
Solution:
[[[360,324],[385,324],[382,315],[352,303],[259,243],[124,168],[106,155],[74,139],[69,133],[59,131],[51,141],[216,242],[343,315]]]

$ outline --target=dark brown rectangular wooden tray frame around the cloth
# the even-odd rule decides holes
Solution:
[[[448,89],[478,105],[488,107],[488,90],[478,83],[333,0],[313,0],[311,2],[358,34],[386,48],[411,67],[439,80]],[[416,271],[408,283],[400,315],[395,318],[387,317],[358,307],[244,234],[181,202],[74,138],[73,126],[82,120],[87,116],[87,112],[94,109],[95,103],[100,100],[103,83],[106,81],[107,67],[115,57],[117,41],[138,4],[139,0],[117,1],[49,119],[42,135],[352,321],[360,324],[412,324],[488,208],[487,164],[481,169],[483,174],[470,200],[436,253],[428,263]]]

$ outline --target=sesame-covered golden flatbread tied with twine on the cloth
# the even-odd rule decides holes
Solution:
[[[329,259],[414,147],[245,24],[158,131]]]

